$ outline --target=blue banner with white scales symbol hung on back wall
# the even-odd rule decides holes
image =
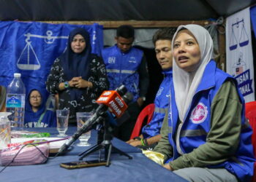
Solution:
[[[92,53],[101,55],[102,25],[0,22],[0,84],[7,86],[17,72],[26,87],[45,87],[53,61],[64,52],[69,32],[77,27],[89,31]]]

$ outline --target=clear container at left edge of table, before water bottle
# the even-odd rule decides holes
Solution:
[[[0,149],[4,149],[11,142],[11,124],[7,116],[10,112],[0,112]]]

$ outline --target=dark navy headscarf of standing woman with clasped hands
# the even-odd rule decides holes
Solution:
[[[71,43],[74,36],[80,34],[86,41],[86,48],[83,52],[75,53],[71,49]],[[64,69],[64,78],[67,81],[73,77],[82,76],[87,80],[89,77],[89,63],[91,61],[91,43],[89,32],[83,28],[75,28],[69,33],[67,50],[60,56],[61,66]],[[83,90],[71,87],[70,95],[72,100],[77,100],[82,95]]]

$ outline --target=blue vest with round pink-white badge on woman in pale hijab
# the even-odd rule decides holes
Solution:
[[[167,162],[177,159],[180,154],[188,154],[193,151],[193,149],[197,149],[197,147],[206,143],[206,136],[209,130],[211,130],[211,102],[214,100],[214,96],[227,78],[233,79],[230,75],[220,71],[216,67],[214,60],[211,60],[206,66],[202,81],[192,99],[192,104],[187,111],[184,123],[179,127],[174,88],[171,88],[171,112],[169,112],[168,116],[168,124],[170,127],[168,138],[170,145],[173,146],[173,158],[168,159]],[[236,80],[233,80],[236,83]],[[238,93],[241,103],[243,104],[243,111],[241,113],[242,129],[240,143],[236,154],[226,162],[208,167],[225,167],[230,173],[235,174],[240,181],[249,181],[253,175],[255,163],[251,142],[252,128],[246,123],[244,117],[244,98],[239,91]],[[178,130],[176,128],[178,128]],[[178,138],[178,142],[174,141],[175,137]],[[173,145],[173,143],[176,144]]]

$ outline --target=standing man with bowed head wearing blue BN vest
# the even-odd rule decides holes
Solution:
[[[148,90],[148,71],[143,51],[132,47],[135,31],[131,25],[121,25],[116,30],[116,44],[102,50],[102,58],[107,68],[110,90],[124,84],[128,92],[132,92],[133,102],[127,111],[130,118],[116,127],[114,135],[123,141],[128,141],[135,126],[140,107],[146,100]]]

